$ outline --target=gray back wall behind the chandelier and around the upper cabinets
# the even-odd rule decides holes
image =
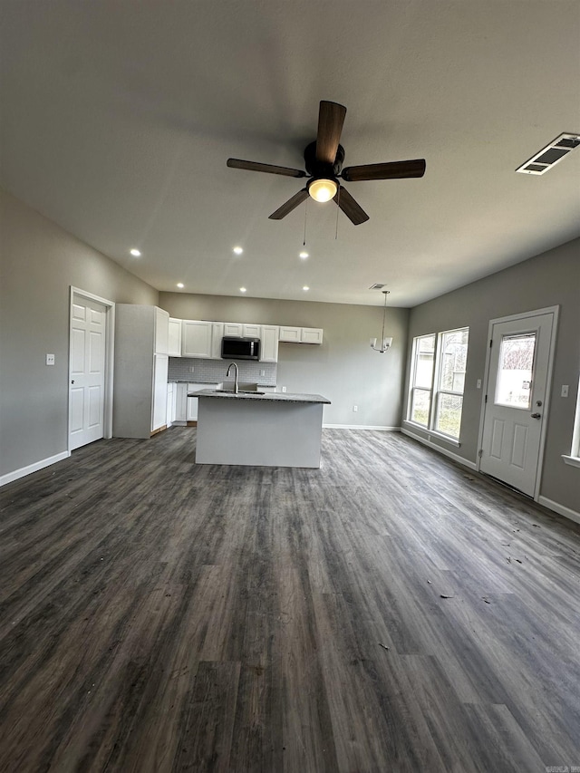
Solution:
[[[377,301],[382,303],[381,294]],[[408,309],[387,310],[385,334],[393,343],[380,354],[372,352],[369,339],[381,336],[381,306],[180,293],[160,293],[160,306],[179,319],[322,327],[322,346],[280,344],[278,389],[323,394],[332,401],[324,406],[325,424],[401,426]],[[353,405],[358,405],[357,413]]]

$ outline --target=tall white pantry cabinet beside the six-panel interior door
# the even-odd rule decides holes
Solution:
[[[157,306],[116,304],[112,434],[150,438],[165,429],[169,314]]]

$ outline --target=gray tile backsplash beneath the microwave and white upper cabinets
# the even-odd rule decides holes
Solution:
[[[255,360],[196,360],[189,357],[169,357],[168,381],[217,384],[226,380],[227,368],[231,362],[237,362],[240,382],[275,386],[276,363]],[[264,375],[260,375],[262,372]]]

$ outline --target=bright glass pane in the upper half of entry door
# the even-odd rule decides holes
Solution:
[[[536,333],[506,335],[501,339],[496,405],[529,410],[535,350]]]

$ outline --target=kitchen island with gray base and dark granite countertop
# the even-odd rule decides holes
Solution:
[[[197,464],[320,467],[320,394],[235,393],[204,389],[198,398]]]

